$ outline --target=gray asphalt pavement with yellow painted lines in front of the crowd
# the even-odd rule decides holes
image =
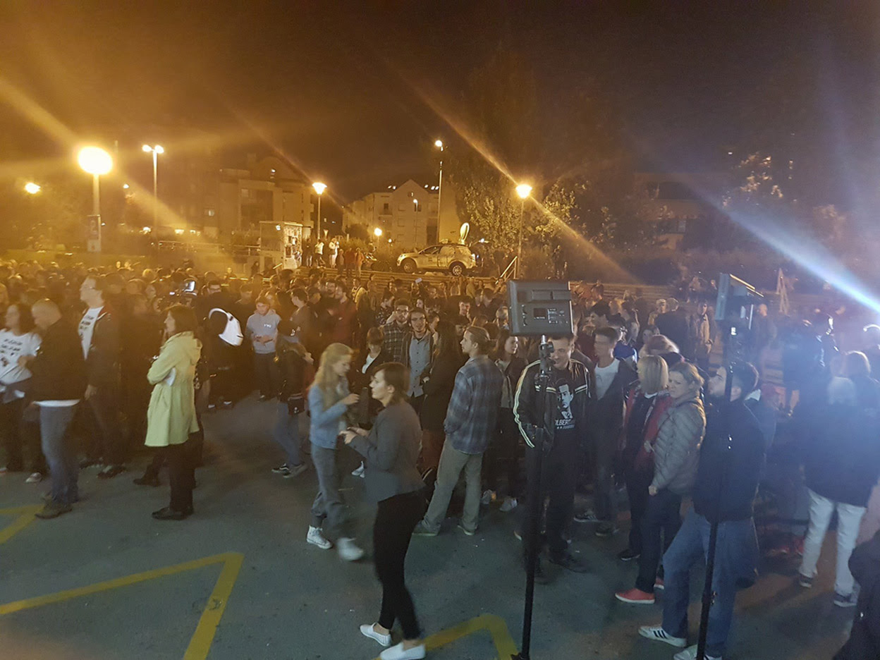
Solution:
[[[275,405],[251,397],[206,415],[206,465],[197,471],[195,515],[159,522],[161,488],[137,487],[129,468],[113,480],[81,476],[83,502],[55,520],[33,519],[42,486],[25,475],[0,479],[0,657],[19,660],[357,660],[378,656],[358,625],[378,617],[380,590],[368,557],[343,563],[305,543],[316,492],[313,471],[284,480],[271,440]],[[358,464],[345,448],[348,469]],[[143,467],[146,457],[136,462]],[[363,480],[345,495],[357,537],[370,548],[374,509]],[[407,580],[429,637],[429,657],[488,660],[516,649],[522,634],[524,573],[513,536],[516,512],[484,508],[473,537],[448,519],[434,539],[413,539]],[[626,522],[622,523],[626,529]],[[555,572],[536,591],[532,658],[660,660],[674,649],[636,634],[661,605],[625,605],[636,567],[615,555],[624,532],[598,539],[576,524],[572,550],[583,575]],[[763,567],[740,593],[731,660],[830,658],[853,610],[832,605],[833,533],[811,590],[796,564]],[[694,571],[691,633],[696,641],[701,572]],[[662,599],[662,595],[659,597]],[[399,636],[399,631],[395,632]]]

